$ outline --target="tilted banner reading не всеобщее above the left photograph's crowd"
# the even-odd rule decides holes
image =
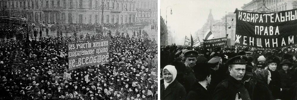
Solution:
[[[108,64],[109,40],[68,43],[68,70],[85,66]]]

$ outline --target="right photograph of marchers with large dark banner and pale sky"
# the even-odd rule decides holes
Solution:
[[[161,0],[160,99],[297,100],[296,6]]]

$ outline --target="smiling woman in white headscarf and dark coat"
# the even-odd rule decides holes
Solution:
[[[176,68],[173,65],[167,65],[163,68],[164,84],[161,85],[161,100],[185,100],[186,89],[176,78]]]

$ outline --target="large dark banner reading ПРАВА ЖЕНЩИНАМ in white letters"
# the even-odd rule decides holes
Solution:
[[[236,10],[235,44],[264,49],[296,45],[296,10],[272,13]]]

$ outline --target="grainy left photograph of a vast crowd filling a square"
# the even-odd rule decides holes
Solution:
[[[158,99],[158,0],[0,8],[0,100]]]

